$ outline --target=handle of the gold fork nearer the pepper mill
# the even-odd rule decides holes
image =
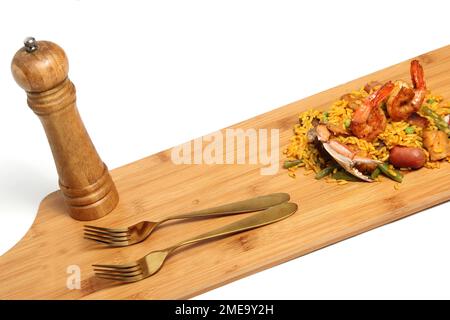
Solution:
[[[175,215],[167,217],[161,222],[174,219],[187,219],[187,218],[199,218],[199,217],[214,217],[222,215],[231,215],[237,213],[245,213],[252,211],[260,211],[277,204],[289,201],[290,197],[287,193],[272,193],[265,196],[259,196],[243,201],[224,204],[219,207],[208,208],[190,213]]]

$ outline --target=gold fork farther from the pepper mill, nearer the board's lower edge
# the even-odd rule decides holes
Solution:
[[[135,262],[121,265],[95,264],[93,265],[94,272],[97,277],[103,279],[125,283],[140,281],[158,272],[166,258],[182,246],[262,227],[291,216],[297,211],[297,208],[295,203],[282,203],[216,230],[181,241],[166,249],[150,252]]]

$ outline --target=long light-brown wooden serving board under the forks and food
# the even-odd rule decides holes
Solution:
[[[428,87],[450,99],[450,46],[418,58]],[[409,79],[409,60],[233,127],[278,128],[284,149],[299,112],[328,108],[369,80],[395,79]],[[292,179],[283,169],[263,176],[258,165],[175,165],[170,154],[163,151],[113,170],[120,203],[94,224],[126,226],[272,192],[288,192],[299,211],[274,225],[180,250],[155,276],[113,285],[94,278],[91,264],[135,260],[242,216],[169,223],[133,247],[103,248],[83,239],[83,222],[69,217],[60,193],[54,192],[42,201],[25,237],[0,257],[0,298],[189,298],[450,199],[448,163],[408,174],[396,191],[388,180],[337,186],[301,173]],[[81,268],[79,290],[66,287],[70,265]]]

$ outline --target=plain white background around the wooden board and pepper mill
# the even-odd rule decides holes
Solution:
[[[447,3],[1,1],[0,253],[57,189],[41,124],[10,73],[26,36],[65,49],[85,125],[115,168],[448,45]],[[198,298],[448,299],[449,208]]]

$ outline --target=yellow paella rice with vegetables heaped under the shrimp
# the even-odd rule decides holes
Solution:
[[[397,85],[397,83],[395,85]],[[391,90],[395,91],[395,85],[390,85],[394,88]],[[385,86],[387,85],[383,85],[383,87]],[[390,178],[395,177],[397,173],[398,177],[401,176],[402,174],[400,171],[409,171],[412,168],[418,169],[418,167],[414,166],[412,168],[399,166],[396,165],[396,162],[392,161],[393,150],[399,148],[402,152],[404,152],[404,150],[415,150],[416,154],[422,152],[424,161],[420,167],[434,169],[439,168],[441,161],[450,161],[450,142],[448,141],[448,130],[446,131],[445,128],[446,125],[448,127],[449,123],[450,103],[448,101],[445,102],[442,96],[434,95],[428,90],[422,97],[423,101],[421,101],[421,108],[414,110],[415,116],[420,120],[419,122],[411,121],[411,116],[402,120],[394,119],[394,116],[390,116],[390,113],[393,113],[393,111],[389,108],[393,107],[390,105],[387,106],[387,103],[390,101],[389,99],[391,99],[389,98],[376,106],[377,109],[381,110],[379,112],[383,113],[381,116],[385,117],[383,129],[372,139],[355,134],[356,130],[354,130],[355,127],[353,126],[357,116],[355,114],[361,111],[361,105],[370,101],[377,92],[382,90],[382,87],[380,87],[381,84],[371,87],[370,90],[367,90],[367,85],[361,87],[359,90],[352,91],[332,103],[328,110],[309,109],[301,112],[298,116],[298,123],[293,128],[294,134],[290,138],[289,145],[284,150],[287,161],[294,164],[286,166],[289,175],[295,177],[296,172],[302,168],[303,174],[308,175],[315,173],[316,177],[319,176],[320,178],[324,178],[326,182],[343,185],[350,181],[354,181],[348,177],[336,175],[338,171],[345,170],[342,170],[343,168],[334,161],[337,157],[331,157],[330,160],[330,154],[326,154],[321,150],[323,148],[321,148],[322,145],[317,143],[317,137],[315,143],[312,143],[310,134],[319,126],[327,127],[329,130],[326,135],[331,134],[332,137],[321,140],[319,135],[319,140],[322,144],[329,144],[333,141],[335,144],[338,143],[348,150],[356,150],[355,154],[356,152],[358,154],[363,154],[364,157],[374,160],[375,163],[385,165],[386,170],[381,170],[381,173],[385,173],[385,175]],[[399,91],[401,92],[402,90],[406,91],[406,89],[400,89]],[[396,97],[394,97],[394,100],[395,98]],[[359,106],[356,105],[356,108],[355,102],[359,104]],[[405,106],[403,105],[402,107]],[[426,112],[424,112],[424,110]],[[444,124],[443,119],[446,119]],[[421,123],[426,125],[422,125]],[[439,147],[439,150],[436,149],[436,146],[434,146],[434,149],[430,149],[430,147],[426,145],[427,141],[424,142],[424,139],[426,139],[424,133],[436,132],[439,130],[447,132],[446,143],[449,152],[444,154],[444,157],[436,160],[436,157],[433,157],[433,155],[438,151],[442,151],[442,147]],[[346,152],[346,150],[344,151]],[[431,156],[430,152],[432,152]],[[332,153],[331,155],[333,156]],[[400,163],[401,162],[400,159]],[[341,162],[338,163],[342,164]],[[332,168],[332,170],[323,172],[326,168]],[[355,175],[354,172],[351,172],[348,168],[345,169]],[[378,175],[380,170],[377,170],[378,172],[376,172],[376,174],[373,172],[375,170],[372,171],[372,177],[374,178],[368,178],[366,181],[380,181],[381,175]],[[349,176],[351,177],[351,175]],[[358,175],[356,176],[359,177]],[[398,179],[397,184],[395,184],[396,189],[399,188],[398,183],[400,182],[401,179]]]

